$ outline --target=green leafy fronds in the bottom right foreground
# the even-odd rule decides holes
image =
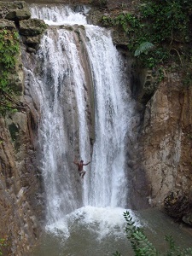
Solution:
[[[131,241],[131,247],[136,256],[189,256],[192,255],[192,247],[181,249],[177,247],[172,236],[166,236],[165,239],[168,242],[169,249],[166,253],[160,253],[154,247],[153,243],[148,240],[145,236],[143,229],[137,227],[135,222],[132,220],[130,212],[124,212],[124,218],[126,221],[126,237]],[[119,252],[113,253],[113,256],[121,256]]]

